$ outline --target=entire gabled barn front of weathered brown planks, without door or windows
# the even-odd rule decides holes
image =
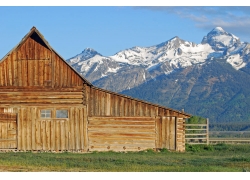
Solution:
[[[0,107],[18,114],[18,150],[84,150],[87,115],[83,79],[34,32],[0,63]],[[68,118],[43,119],[41,109]],[[0,125],[5,129],[5,125]],[[5,135],[4,135],[5,136]]]

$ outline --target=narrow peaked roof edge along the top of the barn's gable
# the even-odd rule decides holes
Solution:
[[[15,51],[16,49],[18,49],[19,47],[22,46],[22,44],[32,35],[36,33],[39,38],[42,40],[42,42],[47,46],[48,49],[50,49],[52,52],[54,52],[56,55],[58,55],[68,66],[69,68],[74,71],[77,75],[80,76],[80,78],[85,81],[88,85],[93,86],[87,79],[85,79],[78,71],[76,71],[71,65],[69,65],[69,63],[67,61],[65,61],[63,59],[63,57],[61,55],[59,55],[48,43],[48,41],[45,40],[45,38],[43,37],[43,35],[36,29],[35,26],[33,26],[30,31],[22,38],[22,40],[13,48],[11,49],[1,60],[0,63],[2,61],[4,61],[13,51]]]

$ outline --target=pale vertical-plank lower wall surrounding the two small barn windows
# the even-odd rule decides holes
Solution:
[[[41,109],[51,109],[52,118],[41,118]],[[69,111],[68,118],[56,118],[56,109]],[[82,151],[87,148],[86,116],[82,107],[18,108],[18,150]]]

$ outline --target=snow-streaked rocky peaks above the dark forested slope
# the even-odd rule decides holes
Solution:
[[[209,63],[214,58],[225,59],[239,70],[248,64],[249,56],[248,43],[216,27],[200,44],[176,36],[155,46],[136,46],[109,57],[87,48],[67,61],[96,86],[120,92],[180,68]]]

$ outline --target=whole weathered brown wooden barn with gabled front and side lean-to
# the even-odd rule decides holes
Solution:
[[[97,88],[33,27],[0,61],[0,150],[185,150],[189,114]]]

